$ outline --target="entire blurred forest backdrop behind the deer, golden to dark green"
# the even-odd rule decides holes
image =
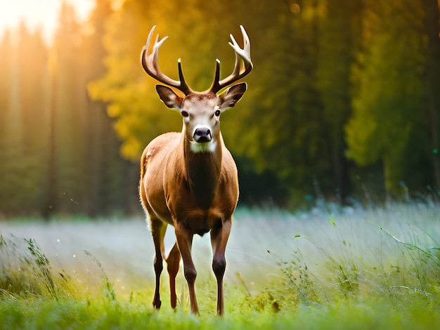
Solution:
[[[439,188],[438,0],[110,0],[81,24],[67,4],[51,46],[20,27],[0,44],[0,213],[140,211],[138,159],[181,116],[155,93],[139,55],[148,32],[170,38],[203,91],[228,34],[251,40],[254,71],[222,117],[240,202],[303,206],[316,198],[380,202]]]

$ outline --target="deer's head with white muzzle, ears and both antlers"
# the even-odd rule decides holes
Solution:
[[[244,47],[240,48],[231,34],[229,44],[235,51],[235,67],[228,77],[220,80],[220,61],[216,60],[216,71],[214,81],[211,87],[204,92],[195,92],[186,84],[183,78],[181,61],[178,61],[179,81],[170,79],[162,74],[157,64],[157,50],[167,39],[164,37],[159,40],[156,37],[153,46],[153,53],[148,55],[150,39],[153,35],[155,27],[153,27],[148,35],[147,43],[143,46],[141,53],[142,66],[145,72],[151,77],[157,79],[167,86],[174,87],[181,91],[185,96],[181,97],[174,93],[172,88],[163,85],[157,85],[156,91],[160,99],[167,107],[179,110],[183,117],[183,125],[185,127],[186,138],[190,142],[190,148],[193,152],[212,152],[220,136],[220,116],[225,110],[234,107],[245,93],[246,83],[236,84],[229,87],[226,92],[219,93],[223,88],[233,84],[242,77],[245,77],[252,70],[252,61],[250,59],[250,41],[247,37],[245,29],[240,25]],[[241,60],[244,67],[240,70]]]

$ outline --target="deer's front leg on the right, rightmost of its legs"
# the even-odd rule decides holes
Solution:
[[[214,270],[217,279],[217,315],[223,315],[224,313],[223,277],[226,270],[225,250],[231,226],[231,219],[227,219],[211,230],[212,270]]]

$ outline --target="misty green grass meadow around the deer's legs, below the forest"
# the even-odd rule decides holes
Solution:
[[[176,310],[166,271],[153,310],[153,244],[141,218],[0,226],[0,329],[440,329],[434,203],[238,209],[221,318],[209,235],[193,244],[196,317],[182,270]]]

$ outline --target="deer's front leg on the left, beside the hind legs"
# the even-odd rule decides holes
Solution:
[[[193,233],[186,230],[183,225],[175,226],[177,244],[181,252],[183,260],[183,273],[188,282],[188,290],[190,293],[190,305],[191,312],[193,314],[199,314],[199,308],[197,305],[197,298],[195,298],[195,277],[197,277],[197,271],[193,263],[191,256],[191,246],[193,245]]]

